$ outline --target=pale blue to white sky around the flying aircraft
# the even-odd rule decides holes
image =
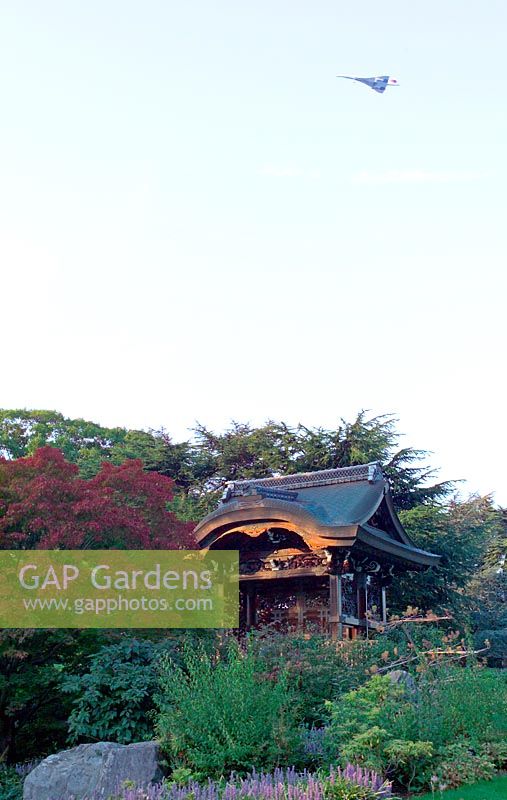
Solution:
[[[394,412],[507,504],[506,34],[504,0],[0,0],[0,405]]]

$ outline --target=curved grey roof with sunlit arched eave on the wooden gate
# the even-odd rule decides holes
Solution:
[[[377,463],[231,483],[195,534],[203,548],[243,549],[234,547],[238,535],[253,544],[271,528],[298,534],[307,552],[374,551],[402,569],[424,569],[440,558],[411,541]],[[320,568],[311,574],[320,574]]]

